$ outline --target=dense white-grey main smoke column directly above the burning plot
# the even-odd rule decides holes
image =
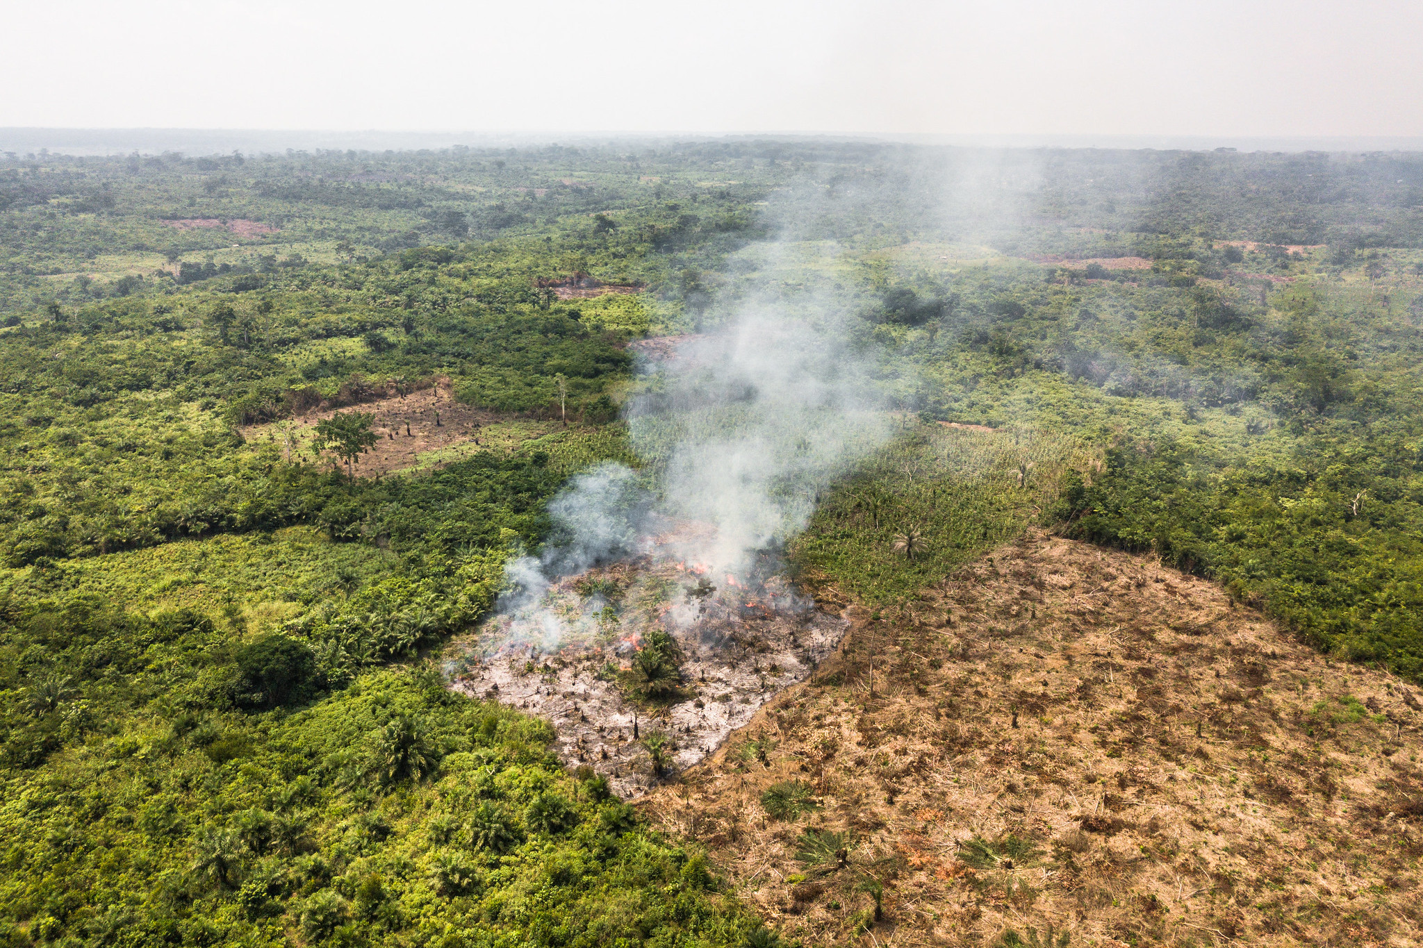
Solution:
[[[804,279],[822,253],[743,254],[753,274],[734,308],[704,320],[714,328],[689,335],[673,357],[642,364],[625,415],[649,463],[640,472],[599,465],[554,500],[555,540],[507,567],[499,610],[512,641],[549,651],[592,623],[596,597],[568,615],[546,608],[546,594],[596,564],[647,556],[744,574],[800,533],[820,492],[888,438],[875,360],[850,343],[857,297]],[[803,279],[787,283],[787,273]]]

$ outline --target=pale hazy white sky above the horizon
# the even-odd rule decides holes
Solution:
[[[1423,1],[0,0],[0,125],[1423,135]]]

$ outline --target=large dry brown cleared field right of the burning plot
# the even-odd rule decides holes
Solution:
[[[845,615],[808,682],[639,804],[785,934],[1419,944],[1416,686],[1211,583],[1043,533]],[[787,787],[811,809],[778,820]]]

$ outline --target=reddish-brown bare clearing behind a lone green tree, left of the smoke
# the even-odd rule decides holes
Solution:
[[[430,388],[406,395],[391,395],[342,408],[324,406],[297,415],[287,422],[295,460],[316,460],[312,448],[316,424],[336,412],[370,412],[376,416],[373,429],[379,441],[353,465],[353,472],[360,478],[416,466],[443,466],[460,456],[455,451],[460,446],[468,446],[471,451],[509,452],[521,441],[519,435],[538,436],[561,428],[558,422],[531,422],[518,431],[507,431],[505,422],[509,421],[507,415],[457,402],[450,379],[441,378]],[[286,446],[280,424],[249,425],[242,433],[248,441],[272,441]],[[430,458],[431,452],[445,452],[448,456]]]

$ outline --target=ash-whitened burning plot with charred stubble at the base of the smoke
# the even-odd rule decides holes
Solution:
[[[770,569],[739,578],[643,556],[559,580],[536,614],[498,615],[448,654],[457,691],[548,719],[568,766],[635,797],[810,675],[845,627]],[[638,659],[657,634],[676,671],[647,694]]]

